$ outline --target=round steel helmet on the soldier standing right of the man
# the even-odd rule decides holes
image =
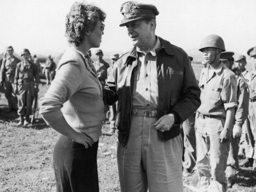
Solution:
[[[218,35],[206,36],[201,42],[201,47],[199,51],[202,52],[204,48],[209,48],[209,47],[221,49],[222,50],[221,52],[226,51],[224,41]]]

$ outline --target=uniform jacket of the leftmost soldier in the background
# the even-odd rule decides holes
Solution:
[[[21,62],[21,60],[17,57],[13,58],[4,58],[1,66],[1,78],[3,81],[10,81],[14,83],[14,76],[17,63]]]

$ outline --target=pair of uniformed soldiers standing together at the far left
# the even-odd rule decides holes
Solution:
[[[8,101],[8,111],[17,111],[18,126],[27,126],[32,114],[32,103],[39,91],[40,63],[36,55],[32,59],[30,51],[23,49],[22,60],[14,55],[12,46],[6,48],[6,56],[2,59],[0,84]]]

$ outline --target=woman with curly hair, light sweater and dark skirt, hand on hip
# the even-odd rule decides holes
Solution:
[[[40,100],[40,114],[61,133],[54,148],[57,191],[99,191],[97,148],[104,121],[102,87],[87,55],[100,47],[106,14],[97,6],[74,3],[66,18],[70,47]]]

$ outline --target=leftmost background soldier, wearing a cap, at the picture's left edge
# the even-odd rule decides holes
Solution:
[[[17,110],[17,96],[14,92],[14,76],[17,63],[21,60],[14,56],[14,49],[9,46],[6,49],[7,57],[3,59],[0,75],[0,84],[4,85],[4,94],[8,101],[9,111]]]

